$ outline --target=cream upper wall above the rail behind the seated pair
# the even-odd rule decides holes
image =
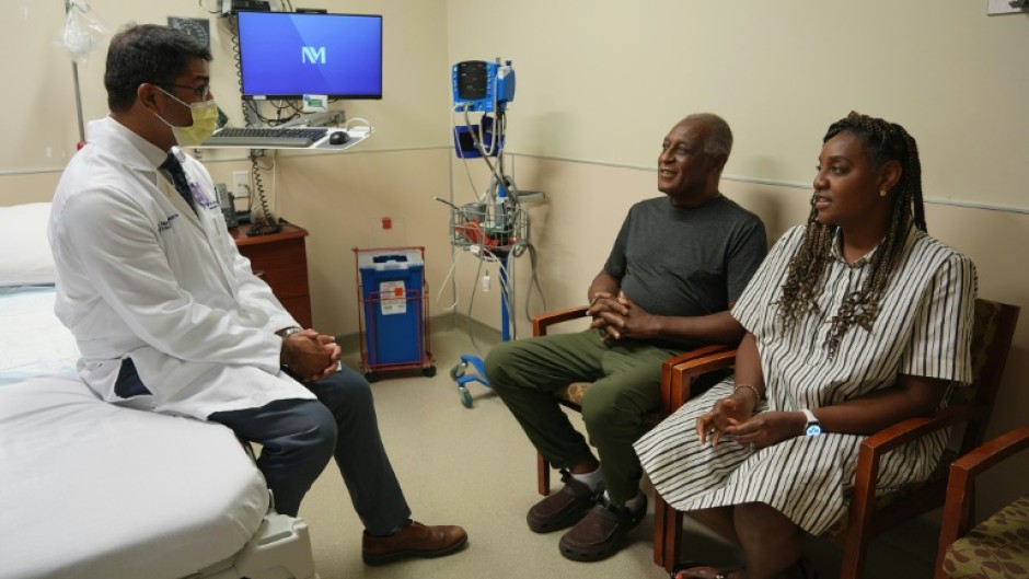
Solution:
[[[1029,207],[1029,14],[939,0],[450,0],[450,57],[513,60],[509,150],[650,167],[713,111],[727,174],[809,183],[851,109],[918,139],[929,197]]]

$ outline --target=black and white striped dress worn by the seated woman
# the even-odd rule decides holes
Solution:
[[[759,410],[831,406],[889,387],[899,374],[971,381],[976,278],[970,259],[911,228],[871,331],[852,326],[830,359],[825,336],[832,316],[870,274],[872,254],[847,265],[837,235],[819,299],[821,313],[786,329],[775,303],[802,238],[803,228],[797,227],[779,239],[732,310],[758,338],[767,397]],[[731,439],[702,447],[697,417],[731,392],[731,380],[716,385],[636,442],[657,491],[680,511],[764,502],[809,533],[831,529],[846,514],[858,445],[866,437],[801,436],[758,451]],[[878,490],[927,478],[946,443],[947,432],[939,432],[889,453]]]

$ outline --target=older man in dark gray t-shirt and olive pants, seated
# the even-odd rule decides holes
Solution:
[[[661,362],[704,344],[737,344],[729,314],[767,247],[756,216],[718,192],[732,132],[720,117],[691,115],[664,138],[658,189],[633,206],[603,270],[590,285],[590,329],[506,341],[486,375],[564,488],[534,505],[529,526],[573,526],[560,553],[596,560],[617,551],[647,512],[633,442],[660,403]],[[590,445],[554,392],[592,382],[582,399]]]

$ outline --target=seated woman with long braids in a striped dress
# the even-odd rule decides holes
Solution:
[[[805,533],[847,513],[869,435],[971,381],[976,278],[926,234],[921,164],[903,127],[851,113],[823,139],[806,225],[783,235],[732,310],[747,328],[735,382],[636,444],[670,505],[740,545],[747,571],[805,577]],[[879,491],[925,479],[947,433],[887,455]]]

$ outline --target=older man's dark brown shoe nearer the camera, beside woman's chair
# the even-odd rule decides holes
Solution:
[[[560,554],[573,560],[599,560],[622,548],[625,535],[647,514],[646,495],[635,510],[600,503],[560,537]]]

